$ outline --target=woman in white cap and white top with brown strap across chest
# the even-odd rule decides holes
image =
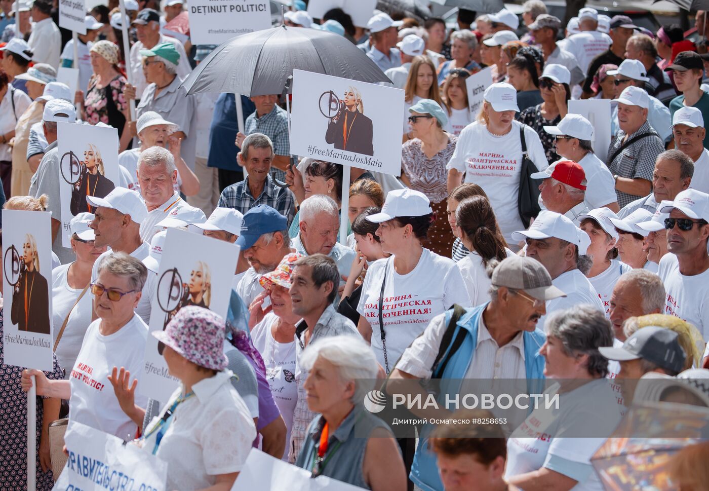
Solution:
[[[106,246],[94,245],[94,229],[89,227],[94,215],[82,213],[69,223],[72,250],[77,255],[73,263],[52,270],[52,325],[54,353],[69,378],[82,348],[86,328],[91,324],[91,268]]]

